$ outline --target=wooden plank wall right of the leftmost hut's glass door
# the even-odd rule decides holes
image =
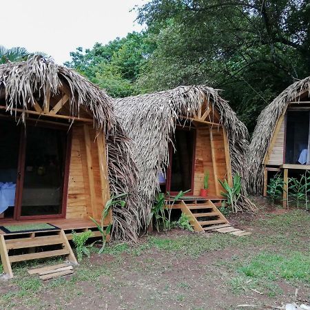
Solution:
[[[72,128],[72,152],[70,160],[68,204],[66,218],[99,218],[103,210],[103,195],[101,192],[101,176],[99,171],[99,154],[96,143],[96,132],[92,125],[87,125],[90,134],[90,154],[93,180],[90,182],[85,145],[85,130],[83,125]],[[105,150],[103,150],[105,152]],[[90,190],[94,184],[94,190]],[[94,211],[90,195],[94,193]],[[109,195],[107,195],[109,196]]]

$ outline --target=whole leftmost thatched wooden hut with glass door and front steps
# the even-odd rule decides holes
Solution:
[[[117,176],[118,160],[128,158],[122,153],[127,138],[110,97],[79,74],[40,56],[0,65],[0,131],[4,271],[12,277],[12,262],[34,258],[68,256],[76,262],[68,242],[72,230],[91,229],[93,236],[100,236],[90,218],[101,218],[110,187],[119,192],[130,187],[124,175],[130,171],[126,167],[133,168],[125,159]],[[111,221],[110,214],[103,224]],[[8,232],[8,226],[38,223],[56,230]],[[43,251],[51,245],[59,247]]]

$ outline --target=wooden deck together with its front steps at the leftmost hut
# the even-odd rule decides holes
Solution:
[[[59,227],[59,229],[16,232],[12,234],[6,234],[5,231],[0,229],[0,255],[5,278],[13,277],[11,267],[13,262],[59,256],[76,265],[76,258],[69,242],[72,239],[72,230],[76,231],[77,234],[91,230],[92,237],[101,236],[96,224],[88,219],[7,220],[6,222],[1,221],[0,225],[23,225],[30,223],[49,223]]]

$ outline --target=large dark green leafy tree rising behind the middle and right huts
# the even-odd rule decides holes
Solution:
[[[152,0],[138,19],[157,46],[138,87],[221,88],[249,130],[262,107],[310,74],[307,0]]]

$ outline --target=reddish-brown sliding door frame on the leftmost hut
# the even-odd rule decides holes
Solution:
[[[30,126],[36,127],[37,123],[34,121],[27,122]],[[49,218],[65,218],[68,203],[68,186],[69,186],[69,172],[70,172],[70,159],[71,159],[71,148],[72,148],[72,130],[71,128],[64,128],[58,124],[41,123],[38,127],[50,128],[52,130],[67,131],[67,141],[65,147],[65,172],[63,175],[63,186],[62,186],[62,201],[61,201],[61,213],[59,214],[48,214],[39,216],[21,216],[21,199],[23,196],[23,179],[25,171],[25,148],[26,148],[26,136],[25,126],[21,129],[20,147],[19,147],[19,162],[17,168],[17,186],[15,193],[15,205],[14,205],[14,216],[13,220],[42,220]]]

